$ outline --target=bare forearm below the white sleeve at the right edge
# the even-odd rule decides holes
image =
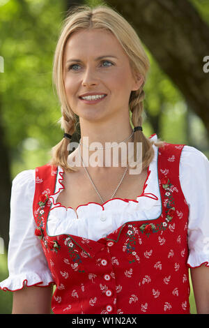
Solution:
[[[190,270],[196,311],[198,314],[209,314],[209,267],[202,265]]]

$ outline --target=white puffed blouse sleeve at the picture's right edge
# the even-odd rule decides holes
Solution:
[[[189,206],[189,267],[209,266],[209,161],[198,149],[183,148],[180,185]]]

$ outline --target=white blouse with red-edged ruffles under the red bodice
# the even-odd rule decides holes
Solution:
[[[151,140],[157,140],[153,135]],[[58,167],[55,192],[49,198],[52,207],[47,221],[47,233],[72,234],[99,240],[127,221],[152,220],[161,213],[161,196],[157,177],[157,147],[150,163],[150,174],[142,195],[133,200],[114,198],[103,205],[95,202],[67,209],[56,203],[64,189],[63,169]],[[10,198],[10,242],[8,247],[9,276],[0,283],[3,290],[20,290],[23,285],[46,286],[53,283],[40,239],[34,231],[33,196],[35,169],[24,170],[13,179]],[[87,177],[86,177],[87,179]],[[189,206],[188,246],[189,267],[209,265],[209,161],[198,149],[183,147],[180,156],[180,185]],[[77,218],[78,216],[78,218]]]

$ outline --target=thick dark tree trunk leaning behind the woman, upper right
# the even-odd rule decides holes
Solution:
[[[110,0],[132,24],[209,133],[209,27],[187,0]]]

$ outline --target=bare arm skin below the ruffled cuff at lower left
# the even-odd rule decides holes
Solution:
[[[53,286],[31,286],[13,292],[12,314],[50,314]]]

